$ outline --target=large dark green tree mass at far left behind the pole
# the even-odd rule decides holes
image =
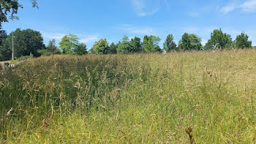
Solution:
[[[0,46],[1,60],[10,60],[12,57],[12,34],[14,37],[15,57],[40,56],[38,50],[45,49],[42,35],[39,31],[32,29],[12,31],[5,39],[2,39]]]

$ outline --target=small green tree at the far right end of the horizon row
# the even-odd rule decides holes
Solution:
[[[252,41],[248,40],[247,34],[242,32],[236,37],[236,40],[233,42],[234,48],[252,48]]]

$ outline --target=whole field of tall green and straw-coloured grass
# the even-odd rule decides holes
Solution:
[[[256,143],[256,49],[41,57],[0,96],[0,143]]]

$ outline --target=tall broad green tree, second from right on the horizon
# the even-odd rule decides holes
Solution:
[[[211,39],[206,43],[206,50],[214,49],[214,48],[231,48],[232,38],[230,34],[223,34],[222,29],[215,29],[214,32],[211,33]]]

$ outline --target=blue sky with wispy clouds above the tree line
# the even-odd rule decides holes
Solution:
[[[40,31],[45,44],[76,34],[90,49],[100,38],[118,42],[124,35],[153,34],[165,41],[173,34],[177,43],[184,32],[195,33],[205,44],[211,31],[222,28],[233,39],[245,31],[256,45],[256,0],[38,0],[39,10],[23,0],[20,20],[3,28]]]

